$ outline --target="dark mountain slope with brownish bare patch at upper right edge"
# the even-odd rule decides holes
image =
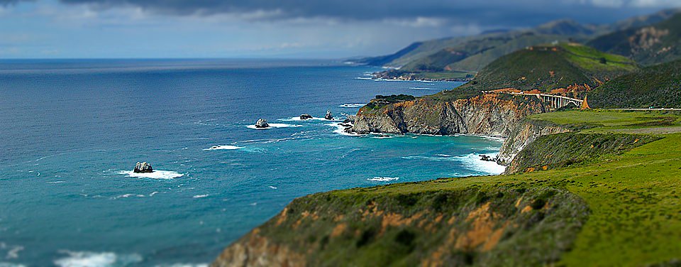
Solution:
[[[651,26],[615,31],[588,44],[602,51],[625,55],[642,65],[681,59],[681,13]]]

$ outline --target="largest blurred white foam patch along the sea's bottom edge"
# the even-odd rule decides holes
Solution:
[[[128,266],[140,263],[142,256],[138,254],[118,255],[114,252],[89,252],[89,251],[60,251],[68,254],[65,258],[54,261],[56,266],[61,267],[91,267],[91,266]]]

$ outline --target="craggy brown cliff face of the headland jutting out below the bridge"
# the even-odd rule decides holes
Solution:
[[[422,98],[380,107],[362,107],[351,131],[506,137],[525,116],[548,109],[539,99],[508,94],[482,94],[453,102]]]

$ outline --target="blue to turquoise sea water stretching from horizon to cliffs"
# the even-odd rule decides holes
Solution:
[[[337,121],[292,119],[461,84],[366,80],[376,70],[0,61],[0,266],[206,264],[295,197],[503,170],[477,159],[498,151],[492,138],[346,136]],[[258,118],[277,127],[250,129]],[[137,161],[165,173],[130,177]]]

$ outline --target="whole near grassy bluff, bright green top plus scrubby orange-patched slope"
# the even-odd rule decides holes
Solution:
[[[671,126],[656,125],[660,117],[673,118]],[[648,266],[678,260],[681,114],[564,111],[531,119],[588,125],[585,133],[572,134],[646,131],[656,140],[631,141],[638,145],[628,151],[606,149],[563,168],[301,197],[215,264],[226,266],[244,251],[253,253],[246,260],[260,261],[267,258],[258,258],[260,252],[286,251],[273,258],[311,266]],[[557,151],[600,149],[582,141],[563,139],[570,146]]]

